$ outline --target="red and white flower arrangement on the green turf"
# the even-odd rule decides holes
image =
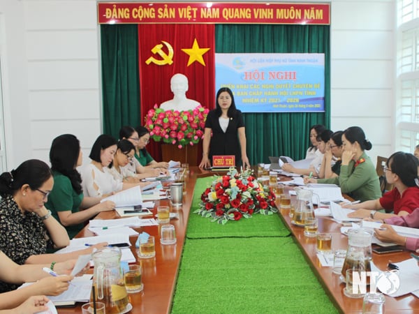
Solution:
[[[199,209],[194,213],[221,224],[251,218],[258,213],[277,213],[274,193],[264,188],[252,174],[250,169],[239,173],[233,167],[225,176],[215,177],[210,188],[201,195]]]

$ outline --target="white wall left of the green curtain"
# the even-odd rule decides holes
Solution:
[[[0,12],[12,122],[6,134],[13,136],[8,167],[48,161],[52,139],[63,133],[79,138],[87,160],[101,133],[96,1],[0,0]]]

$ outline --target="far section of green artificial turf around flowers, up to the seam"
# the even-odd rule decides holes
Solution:
[[[195,191],[189,215],[187,239],[209,239],[223,237],[288,237],[290,232],[281,222],[278,214],[270,216],[253,214],[252,218],[242,218],[238,221],[228,221],[226,225],[212,223],[211,218],[193,214],[198,209],[200,196],[205,188],[211,186],[214,177],[196,180]]]

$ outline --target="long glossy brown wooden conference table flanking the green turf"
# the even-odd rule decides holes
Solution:
[[[183,205],[180,208],[172,208],[167,199],[155,201],[156,206],[152,210],[153,214],[156,214],[156,208],[159,205],[169,205],[171,207],[170,211],[179,214],[178,219],[170,220],[170,223],[175,225],[176,244],[166,246],[160,244],[160,225],[135,228],[138,232],[145,231],[155,237],[156,257],[149,259],[137,257],[138,248],[135,248],[137,237],[130,237],[131,250],[137,258],[137,263],[141,265],[142,283],[144,284],[142,292],[128,294],[130,303],[133,306],[130,313],[170,313],[196,179],[214,174],[219,173],[208,172],[198,167],[190,167],[189,177],[186,179],[186,193],[184,193]],[[277,206],[279,208],[279,202],[277,202]],[[340,281],[338,275],[332,274],[332,267],[322,267],[321,262],[318,260],[316,255],[316,238],[304,237],[304,228],[291,224],[291,218],[289,218],[288,213],[288,209],[279,210],[279,215],[288,227],[288,230],[290,230],[295,244],[300,247],[307,263],[314,271],[314,274],[316,274],[318,281],[323,285],[325,293],[328,294],[338,311],[341,313],[362,313],[362,299],[351,299],[344,295],[343,288],[345,284]],[[116,211],[102,212],[96,216],[96,219],[117,218],[120,217]],[[344,234],[341,234],[340,227],[339,223],[335,223],[330,218],[319,218],[318,232],[329,232],[332,234],[332,248],[334,250],[337,248],[346,249],[348,246],[348,239]],[[94,234],[87,227],[84,227],[76,237],[92,236]],[[373,253],[374,264],[379,269],[386,269],[390,260],[394,263],[402,262],[408,258],[411,258],[409,251],[385,255]],[[82,313],[81,304],[72,308],[57,308],[57,310],[60,314]],[[385,313],[419,313],[419,299],[412,294],[397,298],[385,296]]]

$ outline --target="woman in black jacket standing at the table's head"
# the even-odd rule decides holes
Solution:
[[[228,87],[216,93],[216,109],[208,113],[205,121],[203,159],[199,166],[210,167],[212,156],[218,155],[235,155],[236,166],[243,162],[244,167],[250,167],[242,112],[236,109],[233,92]]]

